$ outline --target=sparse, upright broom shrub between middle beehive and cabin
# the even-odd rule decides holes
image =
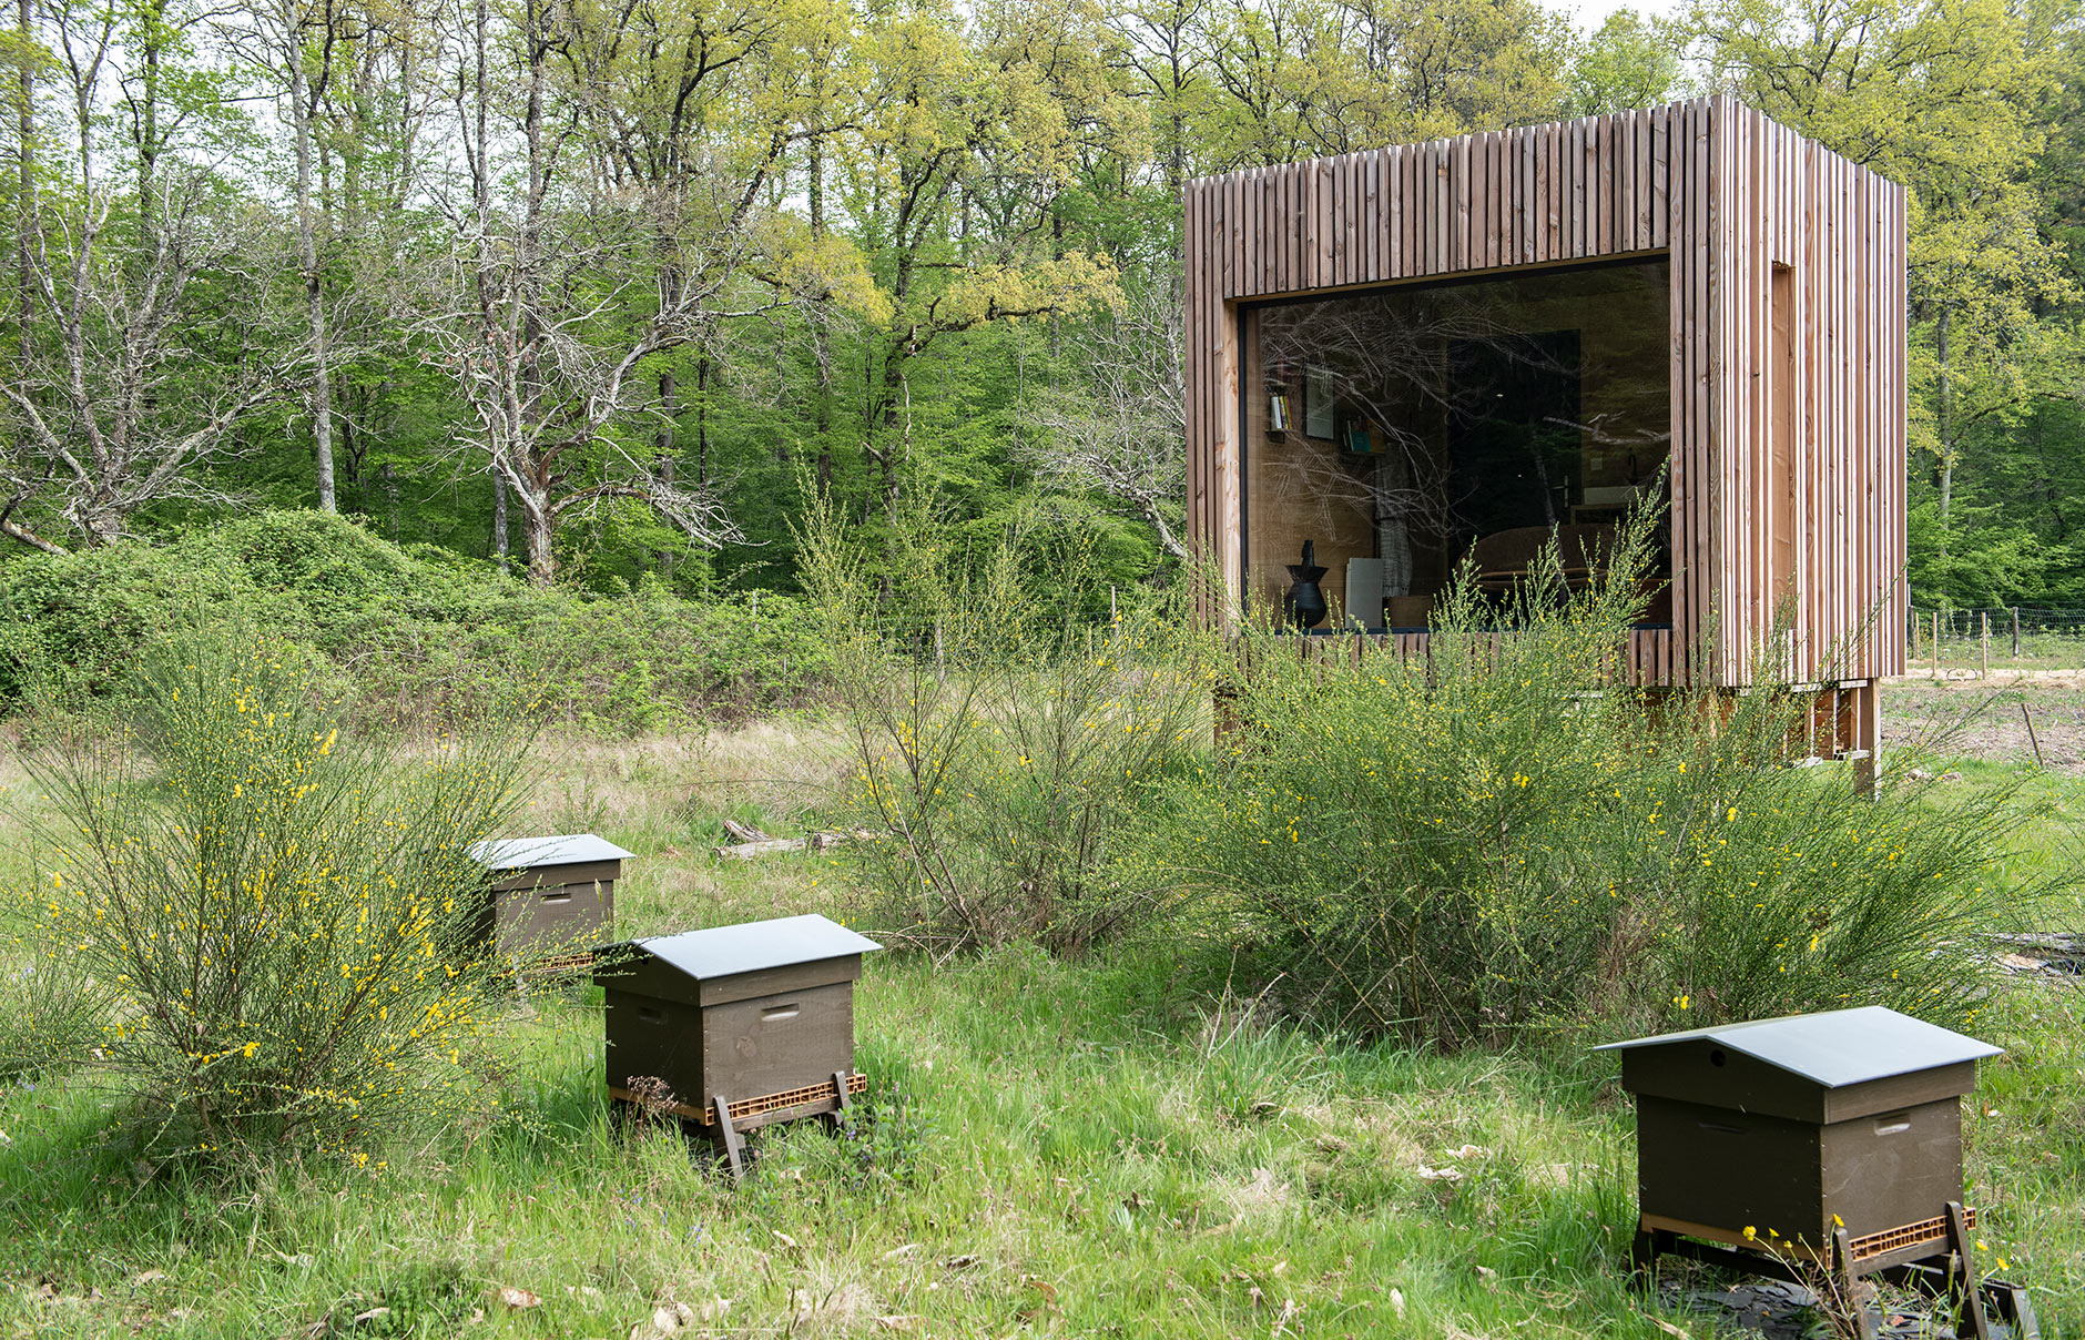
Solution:
[[[1082,950],[1149,917],[1105,879],[1143,796],[1199,752],[1213,671],[1178,592],[1118,596],[1101,623],[1028,588],[1015,523],[965,552],[928,508],[888,531],[884,600],[830,504],[801,533],[853,746],[847,821],[892,934],[936,946]],[[1047,565],[1093,596],[1082,554]]]

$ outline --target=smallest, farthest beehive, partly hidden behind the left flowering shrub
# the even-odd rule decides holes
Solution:
[[[607,838],[494,838],[473,844],[471,859],[492,871],[486,934],[502,957],[575,950],[615,932],[630,852]]]

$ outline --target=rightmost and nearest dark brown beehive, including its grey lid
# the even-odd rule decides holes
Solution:
[[[2002,1048],[1864,1007],[1599,1050],[1637,1096],[1645,1230],[1820,1250],[1962,1200],[1962,1094]]]

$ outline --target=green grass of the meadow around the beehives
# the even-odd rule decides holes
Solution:
[[[2027,692],[2037,713],[2058,711],[2052,694],[2070,702],[2047,684]],[[1893,729],[1935,696],[1885,694]],[[709,811],[759,779],[819,790],[838,742],[761,725],[682,744],[550,744],[544,796],[584,792],[603,836],[651,852],[626,871],[628,900],[617,886],[621,932],[851,915],[859,890],[807,879],[824,859],[717,863],[682,836],[690,794]],[[1945,794],[2010,771],[1968,767]],[[2035,786],[2077,809],[2075,779]],[[2058,825],[2077,815],[2027,836],[2070,869]],[[869,1125],[888,1155],[863,1167],[819,1123],[767,1127],[744,1186],[703,1146],[619,1132],[598,1007],[555,996],[532,994],[536,1019],[513,1036],[528,1059],[502,1109],[523,1119],[411,1167],[281,1159],[227,1190],[106,1140],[106,1096],[90,1086],[6,1086],[0,1275],[17,1286],[0,1290],[0,1332],[246,1340],[344,1334],[394,1307],[402,1319],[357,1332],[621,1338],[676,1302],[692,1317],[682,1334],[753,1336],[1001,1336],[1028,1311],[1036,1334],[1232,1340],[1270,1336],[1291,1302],[1301,1336],[1718,1330],[1630,1284],[1635,1121],[1612,1059],[1537,1038],[1443,1052],[1278,1027],[1224,994],[1228,954],[1193,948],[1166,936],[1078,961],[1034,946],[872,954],[855,1054],[863,1102],[890,1111],[888,1134],[884,1111]],[[2081,1027],[2085,994],[2000,984],[1974,1032],[2008,1052],[1979,1065],[1962,1111],[1966,1196],[1989,1244],[1979,1267],[2010,1261],[2002,1273],[2035,1290],[2047,1336],[2085,1325]],[[507,1309],[502,1286],[542,1302]]]

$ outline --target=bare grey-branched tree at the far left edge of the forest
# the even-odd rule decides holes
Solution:
[[[284,273],[256,240],[265,219],[229,204],[208,169],[158,154],[127,196],[96,156],[100,83],[123,33],[60,15],[58,38],[75,177],[31,183],[25,279],[46,333],[0,375],[21,423],[0,467],[4,533],[46,550],[60,544],[15,517],[29,492],[48,490],[44,506],[85,546],[123,536],[150,502],[206,496],[194,467],[234,448],[234,427],[281,396],[300,358],[286,365],[256,319]]]

